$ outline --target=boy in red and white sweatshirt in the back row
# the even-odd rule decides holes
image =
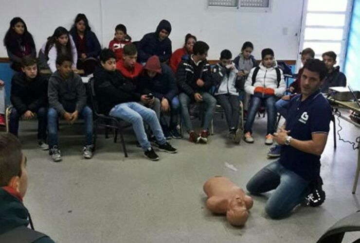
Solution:
[[[115,52],[116,61],[123,59],[124,46],[131,43],[131,37],[127,35],[126,26],[118,24],[115,27],[115,37],[109,43],[109,49]]]

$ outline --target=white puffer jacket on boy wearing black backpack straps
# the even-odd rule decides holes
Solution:
[[[264,88],[272,88],[274,89],[275,96],[281,97],[285,93],[286,84],[284,81],[283,71],[280,69],[281,80],[279,87],[277,87],[277,75],[276,70],[277,62],[271,68],[266,68],[262,63],[260,63],[259,71],[256,75],[255,83],[252,85],[252,73],[254,72],[255,68],[252,68],[248,79],[245,82],[245,92],[248,94],[254,94],[255,87],[264,87]]]

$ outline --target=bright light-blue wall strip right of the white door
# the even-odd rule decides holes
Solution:
[[[360,90],[360,0],[354,0],[344,73],[348,84]]]

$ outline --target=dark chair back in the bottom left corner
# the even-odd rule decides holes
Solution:
[[[0,235],[0,242],[32,243],[43,237],[48,236],[31,228],[19,226]]]

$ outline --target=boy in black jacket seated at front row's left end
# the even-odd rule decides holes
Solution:
[[[42,150],[48,150],[46,127],[48,114],[48,80],[37,70],[37,60],[26,56],[21,60],[21,72],[11,81],[10,100],[13,104],[9,132],[18,136],[20,117],[31,119],[37,115],[37,140]]]

